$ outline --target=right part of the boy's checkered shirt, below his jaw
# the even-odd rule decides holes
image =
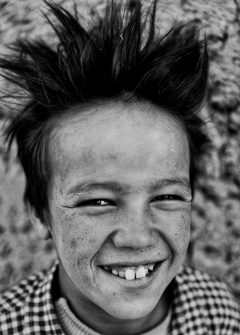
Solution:
[[[176,327],[184,322],[192,335],[240,334],[240,308],[224,282],[183,266],[174,284]]]

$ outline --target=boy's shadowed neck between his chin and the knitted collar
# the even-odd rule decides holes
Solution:
[[[66,292],[65,287],[69,287],[69,285],[62,280],[64,271],[61,270],[63,269],[61,269],[60,265],[60,296],[67,300],[71,311],[80,321],[98,333],[104,335],[137,335],[156,327],[167,315],[169,303],[167,294],[164,292],[156,307],[148,315],[139,319],[125,320],[116,318],[94,304],[82,293],[76,296],[75,292]]]

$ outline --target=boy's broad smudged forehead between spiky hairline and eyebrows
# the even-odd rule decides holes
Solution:
[[[176,116],[147,103],[76,108],[55,128],[50,147],[52,173],[62,182],[94,174],[101,178],[103,173],[120,178],[126,169],[141,174],[154,164],[156,172],[162,164],[163,174],[188,174],[184,126]]]

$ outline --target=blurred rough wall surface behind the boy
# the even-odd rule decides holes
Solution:
[[[71,8],[72,1],[55,1]],[[86,4],[77,1],[86,12]],[[102,12],[103,1],[95,1]],[[42,1],[0,1],[0,52],[17,37],[56,42],[45,23]],[[210,97],[202,111],[214,148],[203,161],[193,201],[186,262],[229,284],[240,301],[240,4],[239,0],[159,0],[160,30],[179,21],[200,21],[210,46]],[[161,28],[162,27],[162,28]],[[1,87],[7,84],[0,81]],[[0,105],[0,125],[7,109]],[[0,140],[0,291],[56,258],[51,241],[40,241],[22,203],[24,176],[13,148]]]

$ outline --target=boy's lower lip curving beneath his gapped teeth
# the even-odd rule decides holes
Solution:
[[[143,278],[138,278],[138,279],[133,279],[133,280],[127,280],[126,278],[114,275],[113,273],[104,270],[100,266],[99,266],[99,269],[101,270],[102,273],[108,276],[109,279],[114,280],[116,284],[125,285],[126,287],[144,288],[144,287],[149,286],[156,279],[159,272],[161,271],[163,262],[164,261],[158,262],[158,264],[155,266],[154,270],[150,274],[146,275]]]

